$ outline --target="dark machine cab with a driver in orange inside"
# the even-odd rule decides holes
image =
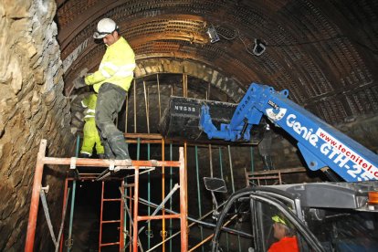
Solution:
[[[378,251],[377,183],[285,184],[232,194],[215,228],[213,251],[232,237],[222,231],[232,215],[252,237],[238,236],[231,251]],[[226,237],[228,236],[228,237]],[[228,243],[228,244],[226,244]],[[232,243],[231,243],[232,244]]]

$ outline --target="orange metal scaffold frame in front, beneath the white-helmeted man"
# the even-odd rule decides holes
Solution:
[[[106,167],[107,169],[98,174],[96,179],[102,179],[104,174],[107,173],[115,173],[116,167],[126,167],[125,169],[131,170],[134,172],[135,176],[135,183],[134,183],[134,195],[133,195],[133,240],[132,240],[132,251],[138,251],[138,222],[142,220],[150,220],[150,219],[170,219],[170,218],[178,218],[180,219],[180,229],[181,229],[181,251],[187,251],[188,243],[187,243],[187,206],[186,206],[186,175],[185,175],[185,166],[184,166],[184,148],[180,147],[180,158],[179,161],[128,161],[128,160],[101,160],[101,159],[87,159],[87,158],[53,158],[53,157],[46,157],[46,148],[47,148],[47,140],[42,140],[39,146],[39,151],[37,154],[37,164],[36,164],[36,172],[34,175],[34,182],[33,182],[33,191],[31,197],[31,204],[30,204],[30,212],[29,212],[29,219],[27,225],[27,233],[26,233],[26,247],[25,251],[33,251],[34,249],[34,241],[36,236],[36,226],[37,226],[37,213],[38,213],[38,206],[39,206],[39,196],[41,191],[44,190],[42,187],[42,176],[45,164],[56,164],[56,165],[69,165],[69,169],[75,171],[75,176],[79,179],[93,179],[93,174],[80,174],[76,169],[77,166],[87,166],[87,167]],[[157,215],[157,216],[141,216],[138,215],[138,204],[139,204],[139,175],[141,169],[151,169],[152,167],[176,167],[179,169],[179,178],[180,178],[180,213],[176,215]],[[107,176],[106,176],[107,177]],[[68,198],[68,179],[65,183],[66,190],[64,192],[64,200],[67,202]],[[73,190],[75,191],[75,186],[73,186]],[[74,192],[72,193],[72,199],[74,200]],[[64,205],[67,207],[67,204]],[[73,207],[73,205],[71,205]],[[123,210],[122,210],[123,212]],[[63,216],[64,218],[64,216]],[[71,220],[70,220],[71,221]],[[63,221],[62,221],[63,222]],[[120,223],[122,221],[120,220]],[[123,230],[123,227],[120,226]],[[71,228],[71,226],[69,226]],[[123,249],[122,242],[123,242],[123,232],[120,233],[120,251]],[[63,240],[63,239],[62,239]],[[61,244],[61,241],[57,241],[56,247],[58,244]],[[57,251],[57,249],[56,249]]]

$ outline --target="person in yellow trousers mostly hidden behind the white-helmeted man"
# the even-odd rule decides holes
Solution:
[[[81,145],[80,157],[89,158],[92,156],[93,147],[96,147],[97,155],[100,159],[105,158],[104,146],[101,144],[99,131],[95,122],[97,95],[90,94],[81,100],[81,105],[86,108],[84,116],[83,144]]]

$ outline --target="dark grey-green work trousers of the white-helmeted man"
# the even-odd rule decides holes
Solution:
[[[130,159],[123,133],[114,124],[125,98],[126,91],[117,85],[105,82],[99,89],[95,120],[105,155],[110,159]]]

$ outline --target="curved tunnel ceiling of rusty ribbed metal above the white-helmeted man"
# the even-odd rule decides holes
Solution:
[[[377,1],[61,0],[57,5],[66,91],[81,68],[100,63],[104,47],[91,36],[108,16],[134,48],[139,78],[180,69],[199,79],[217,75],[222,83],[212,85],[233,90],[230,100],[236,102],[251,82],[260,82],[289,89],[291,100],[331,124],[377,114]],[[206,35],[210,25],[220,36],[214,44]],[[251,54],[255,38],[267,47],[261,56]]]

